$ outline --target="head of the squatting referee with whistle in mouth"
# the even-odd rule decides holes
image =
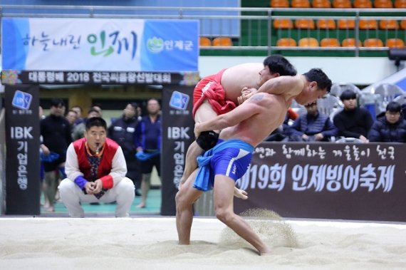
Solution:
[[[86,121],[85,138],[90,150],[98,153],[105,143],[106,131],[107,124],[103,118],[94,117]]]

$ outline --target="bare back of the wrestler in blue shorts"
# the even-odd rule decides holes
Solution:
[[[234,111],[237,114],[244,113],[243,110],[256,110],[256,113],[237,125],[224,128],[219,138],[222,140],[240,139],[253,146],[259,145],[283,123],[290,105],[291,101],[286,101],[282,95],[270,95],[267,93],[253,95],[243,105],[239,106],[241,112],[239,110]]]

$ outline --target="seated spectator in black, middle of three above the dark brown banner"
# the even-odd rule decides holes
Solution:
[[[340,95],[344,109],[334,116],[333,123],[338,128],[338,135],[354,137],[368,142],[368,132],[373,124],[369,110],[358,108],[357,94],[350,89]]]

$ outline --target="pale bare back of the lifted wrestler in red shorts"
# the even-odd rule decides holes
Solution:
[[[238,104],[237,98],[241,95],[242,88],[259,88],[259,72],[263,68],[262,63],[242,63],[227,68],[222,76],[222,86],[226,92],[226,99]]]

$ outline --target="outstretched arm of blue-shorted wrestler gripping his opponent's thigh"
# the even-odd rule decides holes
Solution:
[[[234,110],[223,115],[217,115],[216,118],[197,123],[194,125],[194,135],[199,136],[202,131],[206,130],[222,130],[224,128],[232,127],[241,121],[250,118],[252,115],[260,112],[261,100],[265,98],[264,93],[253,95],[249,100],[239,105]]]

